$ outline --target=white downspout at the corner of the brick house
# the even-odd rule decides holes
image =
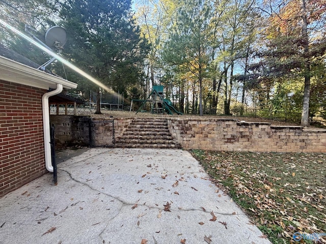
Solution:
[[[44,156],[45,167],[49,172],[53,172],[51,159],[51,145],[50,145],[50,112],[49,112],[49,97],[55,96],[62,92],[62,84],[57,84],[57,89],[45,93],[42,96],[42,111],[43,111],[43,134],[44,134]]]

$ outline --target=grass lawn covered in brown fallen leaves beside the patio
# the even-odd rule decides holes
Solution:
[[[326,154],[191,153],[271,242],[315,243],[292,235],[326,232]]]

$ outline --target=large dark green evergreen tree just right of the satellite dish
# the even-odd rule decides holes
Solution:
[[[60,17],[69,34],[65,55],[78,66],[116,92],[140,82],[148,46],[132,19],[130,0],[67,0]],[[82,92],[84,85],[78,83]],[[95,89],[100,113],[101,91]]]

